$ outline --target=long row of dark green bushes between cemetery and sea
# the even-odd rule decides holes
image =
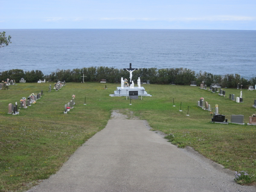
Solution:
[[[87,67],[73,70],[56,70],[50,75],[44,75],[40,70],[23,71],[19,69],[13,69],[8,71],[0,72],[0,80],[6,81],[6,79],[15,79],[19,82],[21,78],[24,78],[26,82],[37,82],[39,79],[46,81],[66,81],[66,82],[81,82],[83,81],[100,81],[106,79],[110,83],[120,83],[121,77],[129,80],[129,73],[126,70],[115,69],[114,67]],[[132,73],[132,80],[137,82],[140,77],[141,82],[144,80],[150,80],[151,84],[180,84],[189,85],[191,81],[196,81],[199,85],[202,81],[207,86],[212,83],[220,83],[222,87],[236,88],[236,85],[242,84],[244,88],[249,85],[256,84],[256,77],[250,80],[241,78],[239,74],[226,74],[225,76],[213,75],[212,73],[200,71],[196,74],[195,71],[183,68],[140,68]]]

